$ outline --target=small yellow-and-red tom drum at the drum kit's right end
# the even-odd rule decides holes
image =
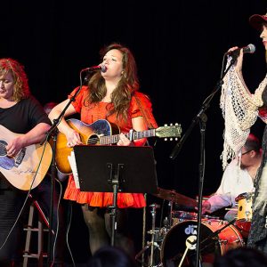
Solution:
[[[243,193],[236,198],[238,203],[238,218],[236,225],[243,236],[247,236],[251,226],[252,219],[252,198],[254,193]]]

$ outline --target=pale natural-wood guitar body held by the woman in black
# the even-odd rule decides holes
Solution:
[[[6,157],[5,146],[19,135],[0,125],[0,172],[14,187],[20,190],[34,189],[43,181],[44,175],[50,167],[52,149],[48,142],[45,145],[45,150],[44,145],[33,144],[20,150],[15,158]],[[43,151],[44,157],[42,158]],[[31,187],[33,179],[35,181]]]

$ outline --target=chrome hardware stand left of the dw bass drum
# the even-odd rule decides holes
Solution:
[[[159,208],[160,206],[158,204],[151,204],[151,215],[152,215],[152,229],[148,231],[148,233],[151,235],[151,240],[148,242],[147,246],[143,247],[142,250],[135,255],[135,260],[140,262],[139,258],[141,255],[145,253],[148,249],[150,249],[150,256],[149,256],[149,263],[145,264],[144,262],[142,263],[142,266],[149,266],[149,267],[157,267],[157,266],[162,266],[162,263],[158,263],[157,265],[155,264],[155,255],[154,255],[154,249],[157,248],[160,251],[160,246],[158,245],[158,242],[155,241],[155,235],[158,233],[158,236],[161,233],[161,230],[156,230],[155,223],[156,223],[156,209]]]

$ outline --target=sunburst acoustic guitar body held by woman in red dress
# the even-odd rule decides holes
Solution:
[[[81,141],[84,144],[98,145],[100,136],[119,134],[118,126],[110,124],[105,119],[99,119],[93,124],[88,125],[76,118],[70,118],[67,120],[67,123],[72,129],[80,134]],[[57,168],[61,174],[72,173],[68,159],[72,150],[72,148],[67,147],[67,138],[65,134],[60,132],[57,136],[55,160]]]

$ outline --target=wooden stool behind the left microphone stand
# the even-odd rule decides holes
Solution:
[[[36,258],[38,260],[37,266],[43,266],[43,258],[47,257],[47,253],[44,253],[44,231],[49,231],[49,222],[47,218],[44,215],[44,212],[42,208],[39,206],[38,202],[32,198],[31,195],[29,195],[29,198],[31,198],[32,203],[29,206],[29,212],[28,212],[28,226],[24,228],[24,231],[27,231],[26,234],[26,243],[25,243],[25,249],[23,253],[23,267],[28,266],[28,259],[29,258]],[[35,210],[38,212],[38,223],[37,227],[34,227],[34,212]],[[38,233],[37,238],[37,253],[30,253],[30,241],[32,238],[32,232]]]

